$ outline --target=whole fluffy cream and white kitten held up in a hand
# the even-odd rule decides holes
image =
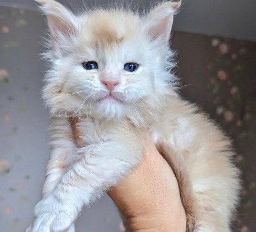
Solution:
[[[169,72],[168,41],[180,3],[162,2],[142,15],[125,9],[74,15],[54,0],[36,1],[51,34],[44,87],[51,158],[36,219],[26,231],[74,231],[83,205],[140,162],[146,130],[176,174],[187,231],[230,231],[239,191],[231,143],[178,96]],[[82,148],[70,117],[80,119]]]

